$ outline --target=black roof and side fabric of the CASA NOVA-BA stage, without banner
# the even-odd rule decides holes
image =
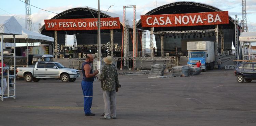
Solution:
[[[174,2],[166,5],[159,6],[145,15],[161,15],[161,14],[185,14],[185,13],[200,13],[200,12],[215,12],[222,11],[214,6],[196,3],[190,1]],[[143,28],[141,26],[141,20],[137,23],[137,28],[150,30],[150,28]],[[224,33],[224,50],[231,51],[231,44],[235,40],[235,30],[234,30],[234,19],[229,16],[229,24],[218,25],[218,28],[223,28]],[[240,26],[239,26],[240,27]],[[241,27],[240,27],[241,28]],[[205,26],[184,26],[184,27],[155,27],[154,31],[188,31],[188,30],[206,30],[215,29],[215,25],[205,25]],[[240,31],[239,31],[240,34]],[[238,35],[239,35],[238,34]],[[221,51],[221,37],[219,40],[219,51]],[[157,51],[161,51],[161,40],[159,35],[155,35]],[[186,42],[187,41],[214,41],[215,42],[215,32],[203,33],[184,33],[184,34],[165,34],[164,37],[164,50],[174,51],[175,47],[186,55]]]

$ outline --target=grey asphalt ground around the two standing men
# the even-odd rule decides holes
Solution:
[[[124,71],[118,71],[120,73]],[[166,73],[165,75],[170,75]],[[117,118],[100,120],[102,90],[94,82],[91,111],[84,116],[81,79],[17,81],[16,99],[0,101],[1,126],[255,126],[256,80],[238,83],[233,70],[191,77],[119,75]]]

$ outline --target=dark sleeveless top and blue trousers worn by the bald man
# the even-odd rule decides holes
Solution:
[[[89,64],[88,62],[84,62],[82,65],[82,73],[83,73],[83,80],[82,80],[82,90],[84,94],[84,112],[85,114],[90,114],[91,104],[93,103],[93,81],[94,77],[86,78],[84,65]],[[90,70],[90,74],[93,74],[93,69]]]

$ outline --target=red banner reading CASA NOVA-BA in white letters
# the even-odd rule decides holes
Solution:
[[[140,17],[142,27],[200,26],[229,23],[228,11],[141,15]]]

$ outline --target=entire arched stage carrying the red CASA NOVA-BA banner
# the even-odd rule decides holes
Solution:
[[[216,55],[230,55],[232,42],[238,49],[238,28],[241,29],[238,21],[229,17],[227,11],[190,1],[174,2],[149,11],[141,16],[137,28],[150,30],[152,57],[155,53],[153,35],[157,52],[160,52],[157,56],[160,57],[169,54],[165,51],[175,53],[176,49],[181,56],[187,56],[188,41],[213,41]],[[238,59],[238,51],[235,55]]]

